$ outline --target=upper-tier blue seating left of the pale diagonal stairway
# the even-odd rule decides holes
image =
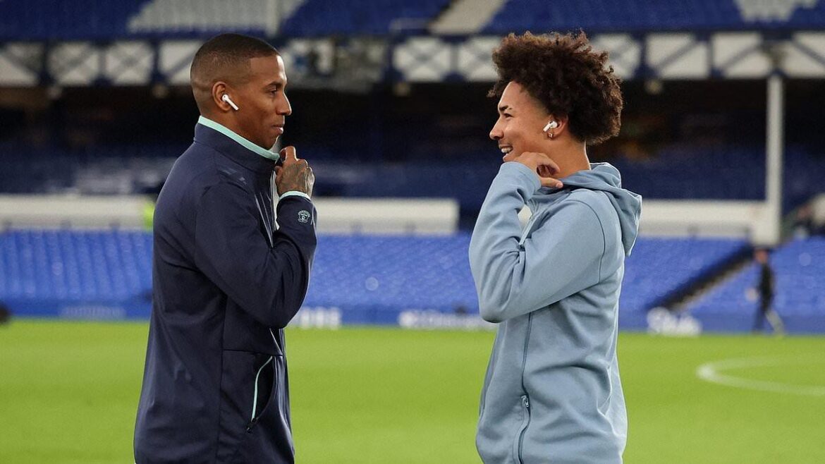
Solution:
[[[5,0],[0,15],[0,40],[210,36],[227,29],[257,36],[387,35],[397,26],[423,30],[449,3],[450,0]]]

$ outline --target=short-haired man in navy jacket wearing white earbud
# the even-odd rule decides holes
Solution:
[[[295,462],[283,328],[316,238],[312,169],[293,147],[271,151],[292,112],[284,62],[262,40],[216,36],[195,54],[191,86],[195,141],[154,215],[134,459]]]

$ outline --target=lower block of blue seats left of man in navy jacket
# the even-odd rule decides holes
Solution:
[[[109,308],[109,317],[145,317],[151,249],[151,235],[135,231],[6,231],[0,299],[17,315],[106,317]]]

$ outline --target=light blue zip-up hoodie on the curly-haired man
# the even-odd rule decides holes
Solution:
[[[607,163],[561,180],[502,164],[470,240],[481,316],[500,323],[476,437],[488,464],[622,461],[619,292],[642,199]]]

